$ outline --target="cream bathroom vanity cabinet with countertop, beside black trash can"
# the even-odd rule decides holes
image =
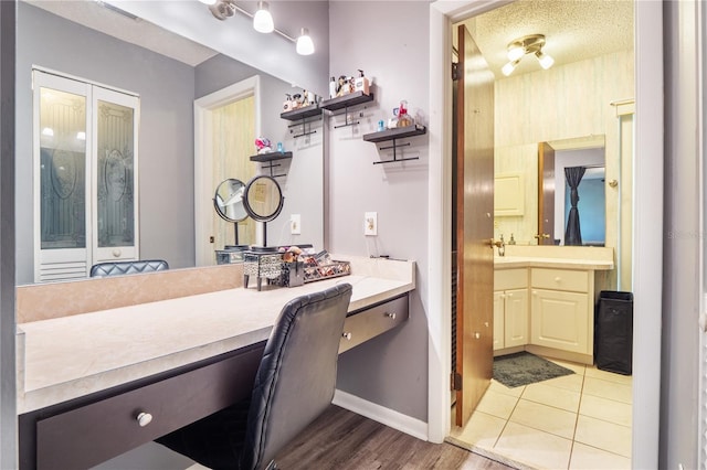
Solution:
[[[610,269],[611,257],[497,258],[494,354],[526,350],[592,364],[594,302],[608,288],[604,274]]]

